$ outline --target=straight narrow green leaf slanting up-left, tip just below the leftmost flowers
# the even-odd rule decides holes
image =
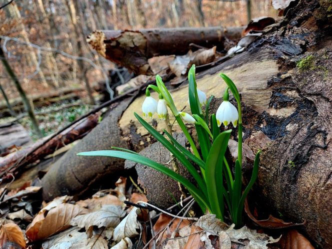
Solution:
[[[165,148],[167,148],[190,172],[193,178],[196,180],[199,188],[206,194],[206,186],[202,177],[197,172],[196,168],[190,163],[190,161],[178,151],[173,144],[171,144],[163,135],[156,131],[150,124],[148,124],[143,118],[141,118],[136,112],[134,112],[137,120],[151,133]]]

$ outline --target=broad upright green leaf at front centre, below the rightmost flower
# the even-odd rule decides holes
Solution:
[[[223,193],[220,189],[222,183],[222,160],[226,152],[228,139],[231,129],[220,133],[213,141],[210,152],[205,163],[205,179],[207,187],[207,195],[210,202],[212,212],[217,218],[223,219]],[[216,175],[220,173],[220,175]]]

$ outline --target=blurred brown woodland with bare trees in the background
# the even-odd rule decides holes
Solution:
[[[249,16],[247,0],[0,0],[0,6],[0,123],[18,120],[35,138],[100,103],[105,81],[118,83],[111,75],[120,83],[132,77],[91,49],[91,31],[231,27],[247,24],[250,15],[277,15],[271,0],[250,0]],[[28,96],[39,133],[31,131],[20,91]]]

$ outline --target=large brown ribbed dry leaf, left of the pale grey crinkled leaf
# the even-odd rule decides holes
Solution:
[[[70,220],[86,213],[86,209],[74,204],[61,203],[50,209],[44,218],[37,214],[26,229],[26,236],[31,240],[39,240],[70,227]]]

